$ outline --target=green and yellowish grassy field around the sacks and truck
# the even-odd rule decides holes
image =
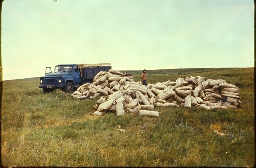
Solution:
[[[132,73],[139,80],[140,71]],[[225,79],[240,88],[241,109],[156,107],[160,117],[91,116],[98,99],[43,94],[39,78],[3,81],[1,159],[4,166],[254,165],[253,68],[147,71],[147,82],[178,77]],[[125,132],[115,129],[121,125]],[[220,137],[213,130],[225,133]]]

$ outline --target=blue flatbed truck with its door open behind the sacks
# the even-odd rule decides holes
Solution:
[[[109,71],[112,68],[110,65],[110,63],[60,64],[55,66],[53,73],[51,67],[46,67],[45,76],[40,77],[39,88],[42,88],[44,93],[54,89],[71,93],[84,83],[92,83],[99,71]]]

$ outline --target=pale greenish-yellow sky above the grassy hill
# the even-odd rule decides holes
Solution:
[[[57,64],[254,67],[253,0],[5,0],[3,80]]]

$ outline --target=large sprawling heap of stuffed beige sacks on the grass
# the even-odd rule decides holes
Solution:
[[[204,109],[227,109],[240,107],[239,89],[226,80],[205,79],[202,76],[178,78],[176,81],[164,81],[142,85],[135,82],[129,73],[109,70],[99,72],[93,83],[80,86],[71,96],[86,100],[100,97],[92,115],[104,115],[107,111],[117,116],[133,113],[146,116],[159,116],[155,106],[192,105]]]

